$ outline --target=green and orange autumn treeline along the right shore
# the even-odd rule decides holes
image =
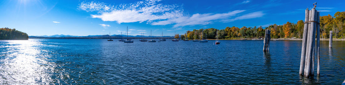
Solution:
[[[303,15],[302,15],[303,16]],[[320,17],[320,32],[321,38],[329,38],[329,31],[333,31],[333,38],[345,38],[345,12],[336,12],[334,16],[326,15]],[[271,38],[302,38],[304,21],[299,20],[297,23],[286,22],[284,25],[273,24],[268,27],[226,27],[225,29],[218,30],[218,39],[238,39],[238,38],[262,38],[265,34],[265,30],[271,30]],[[182,34],[181,39],[201,39],[201,32],[203,29],[187,31],[185,34]],[[207,39],[216,39],[215,28],[204,29],[204,36]],[[194,35],[195,34],[195,35]],[[178,35],[175,38],[179,38]]]

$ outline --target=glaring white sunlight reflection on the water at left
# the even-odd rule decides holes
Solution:
[[[2,84],[50,84],[50,75],[46,73],[51,67],[45,57],[40,57],[41,45],[37,40],[10,40],[1,43],[7,43],[9,46],[4,53],[1,53],[3,59],[0,60],[0,81]]]

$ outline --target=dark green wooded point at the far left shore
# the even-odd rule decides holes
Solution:
[[[16,29],[1,28],[0,40],[28,40],[28,34]]]

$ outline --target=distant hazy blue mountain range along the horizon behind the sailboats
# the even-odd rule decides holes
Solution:
[[[73,36],[73,35],[41,35],[41,36],[29,36],[29,39],[122,39],[127,37],[127,35],[88,35],[88,36]],[[141,35],[128,35],[130,39],[139,38],[161,38],[161,36],[141,36]],[[174,36],[163,36],[163,38],[174,38]]]

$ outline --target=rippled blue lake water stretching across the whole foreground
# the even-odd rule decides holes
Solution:
[[[329,84],[345,79],[345,41],[321,41],[320,73],[298,75],[302,41],[0,41],[0,84]],[[316,63],[315,63],[316,74]]]

